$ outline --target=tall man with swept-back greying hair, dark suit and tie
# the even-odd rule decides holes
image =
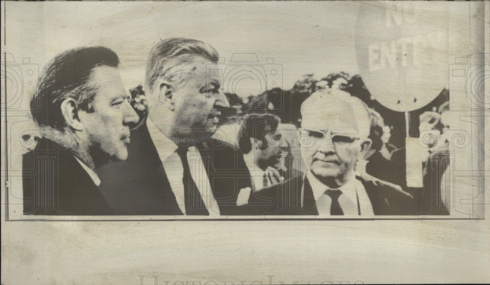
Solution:
[[[193,39],[166,39],[151,49],[148,118],[131,134],[119,172],[127,183],[111,186],[123,190],[122,214],[238,214],[238,193],[251,181],[243,155],[211,138],[227,107],[221,77],[210,72],[217,61],[215,48]]]

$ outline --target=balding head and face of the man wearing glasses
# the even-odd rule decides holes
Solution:
[[[331,188],[342,186],[369,149],[368,111],[359,99],[328,89],[305,100],[301,115],[298,142],[308,170]]]

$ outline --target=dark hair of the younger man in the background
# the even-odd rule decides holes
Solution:
[[[243,153],[249,153],[252,150],[250,138],[261,140],[264,143],[264,148],[267,147],[267,141],[264,140],[264,135],[268,128],[270,131],[275,131],[281,119],[271,114],[249,114],[245,116],[243,125],[239,132],[238,146]]]

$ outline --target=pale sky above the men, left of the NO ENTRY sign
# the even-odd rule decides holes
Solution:
[[[225,60],[234,52],[256,53],[261,62],[272,57],[286,89],[306,73],[358,71],[356,3],[32,4],[19,10],[7,3],[7,50],[44,65],[65,49],[103,45],[120,56],[128,86],[144,80],[150,48],[169,37],[208,42]]]

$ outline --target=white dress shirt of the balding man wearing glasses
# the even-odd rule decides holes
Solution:
[[[339,196],[339,204],[344,215],[374,215],[368,193],[362,182],[357,180],[355,175],[352,175],[347,183],[338,189],[327,187],[311,171],[306,173],[306,178],[308,178],[311,189],[313,190],[313,196],[317,202],[317,210],[320,216],[330,215],[332,198],[325,194],[326,190],[342,191],[342,194]],[[304,186],[301,192],[304,197]],[[301,199],[301,203],[303,203],[303,199]]]

